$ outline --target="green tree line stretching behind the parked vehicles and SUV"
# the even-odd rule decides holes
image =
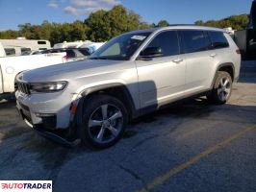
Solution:
[[[233,15],[220,20],[195,21],[195,25],[206,25],[219,28],[232,27],[235,30],[245,29],[248,23],[248,15]],[[113,36],[125,32],[165,27],[169,23],[161,20],[157,24],[141,21],[141,16],[133,11],[128,11],[123,6],[115,6],[110,11],[98,11],[90,13],[83,22],[76,20],[72,23],[55,23],[43,21],[40,25],[30,23],[18,25],[18,30],[0,32],[0,38],[12,39],[17,36],[25,36],[28,39],[47,39],[51,44],[75,40],[107,41]]]

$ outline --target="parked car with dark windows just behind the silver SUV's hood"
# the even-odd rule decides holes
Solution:
[[[90,51],[87,48],[61,48],[61,49],[48,49],[42,51],[40,54],[49,53],[66,53],[66,61],[85,60],[90,56]]]

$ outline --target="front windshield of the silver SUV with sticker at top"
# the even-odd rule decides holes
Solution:
[[[117,36],[93,53],[90,60],[130,60],[150,34],[144,32]]]

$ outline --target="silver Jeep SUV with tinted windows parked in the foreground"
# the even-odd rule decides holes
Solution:
[[[116,36],[89,60],[17,76],[17,108],[36,131],[109,147],[129,120],[191,96],[224,104],[241,55],[223,30],[169,26]]]

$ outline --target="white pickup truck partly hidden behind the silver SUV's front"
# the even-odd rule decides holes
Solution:
[[[56,53],[0,58],[0,99],[9,98],[10,93],[14,92],[17,74],[38,67],[64,63],[65,55]]]

